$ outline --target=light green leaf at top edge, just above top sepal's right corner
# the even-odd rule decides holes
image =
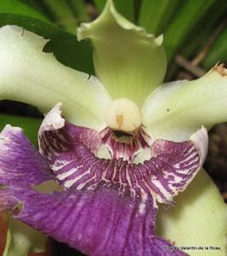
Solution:
[[[144,0],[139,14],[139,26],[145,27],[147,32],[157,34],[173,15],[179,0]]]

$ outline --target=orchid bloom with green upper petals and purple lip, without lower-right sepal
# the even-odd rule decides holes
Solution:
[[[1,99],[45,114],[39,151],[18,127],[0,134],[0,205],[88,255],[185,255],[156,236],[156,214],[161,204],[177,207],[173,197],[205,160],[207,129],[226,120],[227,71],[162,84],[162,36],[125,20],[111,1],[77,38],[91,39],[98,79],[44,53],[46,39],[0,28]],[[49,180],[60,191],[37,189]]]

